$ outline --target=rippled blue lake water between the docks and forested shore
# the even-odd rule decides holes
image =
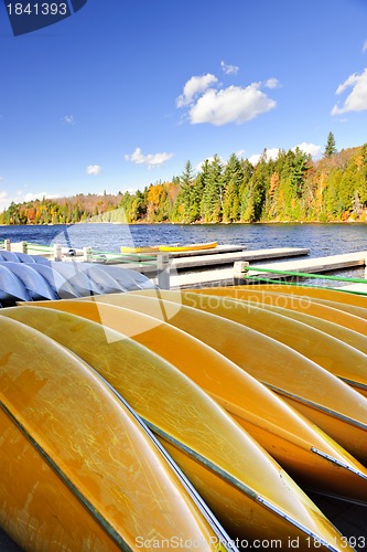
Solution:
[[[0,240],[91,246],[119,253],[121,245],[202,243],[265,247],[309,247],[310,256],[367,251],[367,224],[75,224],[54,226],[0,226]],[[263,263],[261,263],[263,264]],[[341,273],[342,275],[342,273]],[[344,270],[343,276],[364,277],[364,269]]]

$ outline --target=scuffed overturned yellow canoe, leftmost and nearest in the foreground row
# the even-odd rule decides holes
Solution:
[[[180,535],[217,550],[151,438],[89,367],[6,317],[0,343],[0,524],[22,549],[131,550]]]

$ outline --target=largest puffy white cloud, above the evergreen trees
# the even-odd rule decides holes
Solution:
[[[209,88],[191,107],[190,120],[194,125],[211,123],[222,126],[228,123],[239,125],[253,119],[277,105],[259,87],[259,83],[252,83],[246,88],[239,86],[229,86],[222,91]]]

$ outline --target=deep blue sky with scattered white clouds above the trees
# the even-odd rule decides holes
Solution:
[[[367,2],[88,0],[17,38],[1,2],[0,83],[0,209],[316,156],[367,141]]]

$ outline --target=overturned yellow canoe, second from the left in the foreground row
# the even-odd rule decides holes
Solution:
[[[172,364],[75,315],[36,307],[7,312],[65,344],[106,378],[155,432],[229,534],[277,535],[284,544],[299,538],[301,549],[315,537],[342,550],[339,533],[287,473]]]

